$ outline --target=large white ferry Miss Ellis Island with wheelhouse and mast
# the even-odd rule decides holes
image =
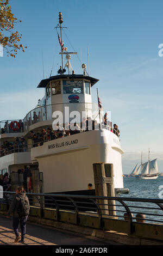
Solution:
[[[56,27],[60,32],[61,23],[60,13],[59,25]],[[123,150],[120,139],[112,132],[110,126],[104,125],[101,118],[93,114],[95,109],[98,114],[99,105],[92,103],[91,89],[98,79],[87,74],[85,64],[82,65],[83,74],[75,74],[70,63],[73,53],[64,48],[62,34],[61,38],[58,34],[58,39],[62,58],[58,75],[41,80],[37,86],[38,89],[45,88],[45,96],[24,119],[1,121],[0,174],[8,172],[10,175],[11,172],[17,172],[27,166],[30,166],[30,169],[39,168],[43,173],[44,193],[91,195],[95,194],[93,163],[112,163],[116,195],[128,193],[128,188],[123,187]],[[66,69],[68,74],[65,74]],[[67,111],[70,113],[70,120],[66,120]],[[99,129],[89,130],[81,127],[77,132],[70,132],[71,135],[69,131],[62,132],[57,138],[53,136],[46,141],[34,143],[33,134],[37,137],[42,129],[47,131],[48,127],[54,130],[54,121],[58,118],[56,113],[62,113],[64,121],[59,121],[59,124],[62,123],[65,127],[66,123],[72,121],[76,112],[80,113],[80,120],[76,121],[79,126],[83,121],[84,112],[85,118],[96,120],[96,127]],[[22,139],[23,143],[20,144],[22,137],[25,142]]]

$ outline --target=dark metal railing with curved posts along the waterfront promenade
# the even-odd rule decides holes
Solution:
[[[15,192],[3,192],[3,203],[10,204],[14,195]],[[95,216],[99,218],[99,228],[103,230],[105,220],[109,219],[111,219],[110,230],[128,234],[134,233],[135,222],[146,226],[157,225],[163,229],[163,199],[78,196],[58,193],[27,193],[27,196],[30,206],[40,208],[42,218],[45,216],[46,209],[50,208],[57,212],[56,221],[61,221],[62,211],[73,213],[76,224],[79,225],[82,214]],[[119,221],[118,225],[117,221]],[[124,222],[128,223],[125,230],[123,229]]]

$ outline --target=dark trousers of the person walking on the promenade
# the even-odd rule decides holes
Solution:
[[[13,217],[13,223],[12,223],[12,227],[14,229],[15,235],[18,236],[18,224],[20,222],[20,226],[21,226],[21,240],[24,240],[24,237],[26,235],[26,222],[27,222],[27,218],[23,217],[23,218],[18,218],[18,217]]]

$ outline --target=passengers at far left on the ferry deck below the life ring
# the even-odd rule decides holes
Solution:
[[[5,141],[0,148],[0,157],[18,153],[18,152],[26,152],[27,151],[27,141],[24,137],[21,139],[16,138],[15,142]]]

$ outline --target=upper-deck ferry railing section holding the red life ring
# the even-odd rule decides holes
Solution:
[[[0,134],[24,132],[23,120],[2,120],[0,121]]]

